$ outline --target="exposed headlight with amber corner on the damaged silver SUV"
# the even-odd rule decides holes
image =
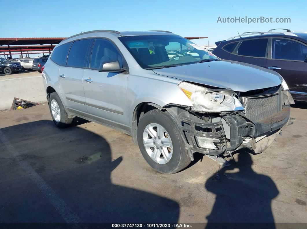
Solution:
[[[229,91],[215,92],[187,82],[179,83],[178,87],[192,102],[194,111],[212,113],[244,110],[243,105]]]

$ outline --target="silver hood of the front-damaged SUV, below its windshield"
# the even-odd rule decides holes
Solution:
[[[282,77],[277,72],[237,61],[211,61],[153,69],[153,72],[187,82],[230,88],[234,91],[275,87],[282,83]]]

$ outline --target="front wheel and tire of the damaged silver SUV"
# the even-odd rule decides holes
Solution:
[[[181,133],[167,112],[147,112],[139,120],[137,138],[144,159],[158,172],[176,173],[191,162]]]

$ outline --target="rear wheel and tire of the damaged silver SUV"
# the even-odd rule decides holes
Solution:
[[[54,124],[59,128],[65,128],[72,124],[73,118],[69,118],[64,105],[56,92],[49,97],[49,110]]]

